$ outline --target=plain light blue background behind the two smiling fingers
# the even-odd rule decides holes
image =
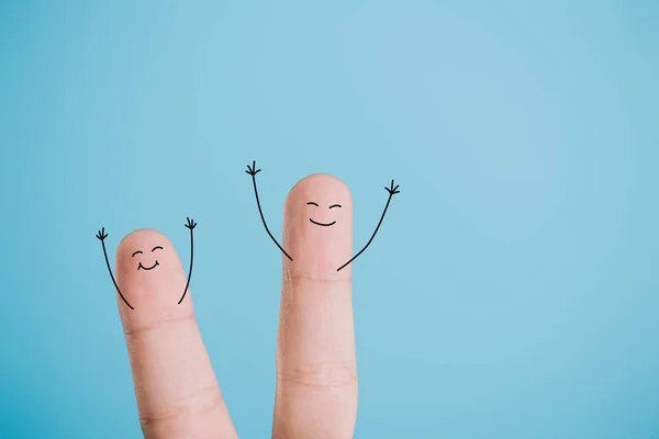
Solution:
[[[94,238],[189,257],[238,432],[270,434],[281,234],[350,187],[357,438],[659,436],[659,3],[0,5],[0,436],[138,438]]]

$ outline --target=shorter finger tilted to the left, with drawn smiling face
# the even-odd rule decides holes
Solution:
[[[163,249],[131,256],[156,246]],[[236,438],[192,300],[177,304],[187,279],[171,243],[148,229],[126,236],[116,250],[116,280],[135,308],[119,304],[145,437]]]

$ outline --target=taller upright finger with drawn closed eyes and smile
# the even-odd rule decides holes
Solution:
[[[319,210],[340,204],[342,209]],[[310,222],[330,224],[319,226]],[[284,206],[284,260],[277,346],[275,438],[351,438],[357,414],[357,365],[351,268],[353,203],[334,177],[300,181]]]

